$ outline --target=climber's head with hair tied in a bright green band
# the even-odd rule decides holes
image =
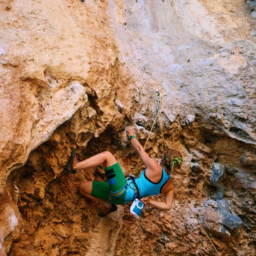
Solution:
[[[177,168],[180,168],[183,164],[182,154],[177,150],[169,150],[165,152],[163,158],[160,161],[160,166],[166,170],[166,172],[175,172]]]

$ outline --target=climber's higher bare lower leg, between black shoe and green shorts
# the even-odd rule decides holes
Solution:
[[[100,166],[101,164],[103,164],[104,167],[107,168],[115,163],[117,163],[117,161],[113,154],[111,154],[111,152],[109,151],[105,151],[77,163],[76,166],[73,167],[73,169],[78,171],[86,168],[95,168],[97,166]]]

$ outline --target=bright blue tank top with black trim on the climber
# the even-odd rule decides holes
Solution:
[[[144,170],[140,174],[140,177],[135,179],[136,185],[140,191],[140,198],[160,194],[163,186],[166,185],[169,178],[170,175],[168,175],[165,169],[162,168],[162,177],[159,182],[155,183],[146,177]],[[126,190],[125,201],[133,201],[135,199],[135,187],[131,180],[128,180],[128,185],[129,186]]]

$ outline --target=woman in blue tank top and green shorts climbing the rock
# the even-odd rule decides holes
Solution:
[[[70,159],[65,170],[77,171],[86,168],[95,168],[101,164],[105,167],[107,182],[84,181],[79,184],[79,192],[87,198],[96,200],[104,204],[105,209],[99,212],[100,217],[104,217],[117,210],[116,204],[126,204],[134,201],[135,198],[142,198],[145,204],[162,209],[170,210],[174,197],[174,184],[170,172],[172,169],[182,166],[182,155],[179,151],[166,152],[158,164],[156,160],[149,157],[143,150],[142,145],[135,137],[134,128],[126,131],[134,149],[139,154],[146,169],[137,179],[125,179],[122,169],[111,152],[105,151],[94,155],[84,161],[76,160],[76,151],[72,148]],[[151,195],[165,195],[164,201],[155,201],[148,198]]]

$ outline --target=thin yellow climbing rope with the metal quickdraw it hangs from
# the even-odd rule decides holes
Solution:
[[[156,112],[155,112],[154,123],[153,123],[153,125],[152,125],[152,127],[151,127],[151,130],[150,130],[149,134],[148,134],[148,138],[149,138],[149,136],[150,136],[150,134],[151,134],[151,131],[152,131],[152,129],[153,129],[153,127],[154,127],[154,124],[155,124],[155,122],[156,122],[156,119],[157,119],[157,120],[158,120],[159,127],[160,127],[160,131],[161,131],[161,135],[162,135],[162,138],[163,138],[164,148],[165,148],[165,151],[167,152],[167,147],[166,147],[165,139],[164,139],[164,136],[163,136],[163,131],[162,131],[162,128],[161,128],[161,125],[160,125],[160,121],[159,121],[159,103],[160,103],[160,99],[161,99],[161,95],[160,95],[159,91],[157,91],[157,93],[156,93],[157,109],[156,109]],[[145,145],[144,145],[144,147],[143,147],[143,150],[145,150],[146,144],[147,144],[147,142],[148,142],[148,138],[147,138],[147,140],[146,140],[146,142],[145,142]],[[179,157],[179,158],[180,158],[180,157]],[[183,196],[182,192],[180,191],[180,189],[179,189],[179,187],[178,187],[178,185],[177,185],[177,183],[176,183],[176,181],[175,181],[174,173],[173,173],[173,166],[174,166],[174,164],[176,163],[176,161],[178,161],[178,163],[180,163],[180,159],[176,159],[175,161],[173,161],[173,162],[171,163],[171,164],[172,164],[172,179],[173,179],[174,185],[175,185],[175,187],[177,188],[177,190],[178,190],[178,192],[180,193],[180,195],[182,196],[183,200],[186,202],[186,204],[187,204],[187,206],[189,207],[189,209],[191,210],[191,212],[193,213],[193,215],[195,216],[196,220],[198,221],[198,224],[200,225],[200,227],[202,228],[202,230],[204,230],[204,227],[201,225],[201,223],[200,223],[200,221],[198,220],[198,218],[196,217],[195,213],[193,212],[193,210],[192,210],[191,207],[189,206],[188,202],[186,201],[185,197]],[[137,169],[138,169],[140,166],[142,166],[142,165],[140,165],[140,166],[138,167],[139,163],[140,163],[140,159],[139,159],[139,161],[138,161],[138,163],[137,163],[137,166],[136,166],[136,168],[135,168],[135,170],[134,170],[134,173],[136,173],[136,172],[137,172]],[[181,162],[180,164],[182,165],[182,162]],[[211,242],[211,244],[212,244],[212,246],[214,247],[214,249],[215,249],[216,253],[218,254],[218,256],[220,256],[220,254],[218,253],[218,250],[216,249],[216,247],[215,247],[214,244],[212,243],[212,240],[209,238],[209,236],[208,236],[208,234],[207,234],[207,232],[206,232],[205,230],[204,230],[204,233],[205,233],[206,236],[208,237],[209,241]]]

